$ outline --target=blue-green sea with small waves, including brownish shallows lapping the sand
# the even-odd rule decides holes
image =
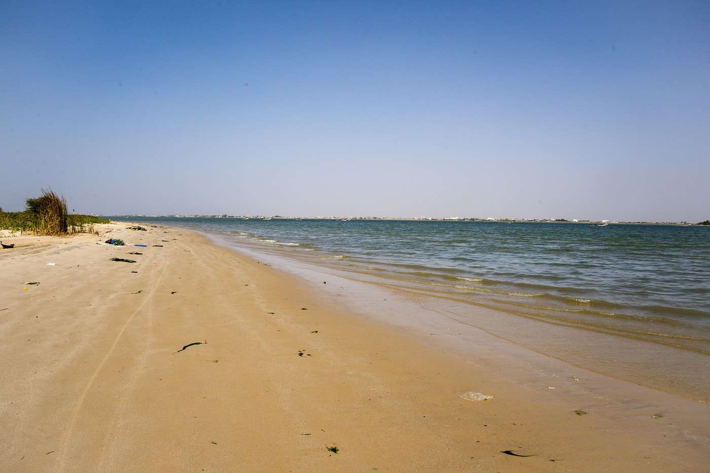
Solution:
[[[467,321],[553,357],[710,401],[710,227],[125,219],[217,232],[446,301],[460,317],[486,308],[485,319]]]

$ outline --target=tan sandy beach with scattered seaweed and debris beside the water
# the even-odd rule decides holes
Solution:
[[[587,412],[589,393],[530,388],[200,234],[128,226],[7,239],[1,471],[697,472],[710,460],[707,421],[687,420],[706,405],[678,398],[689,407],[654,417],[674,396],[638,386],[628,405],[648,393],[648,406],[628,422]],[[112,237],[147,246],[97,244]],[[471,391],[493,398],[459,397]]]

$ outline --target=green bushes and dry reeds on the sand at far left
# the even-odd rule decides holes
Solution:
[[[92,215],[68,214],[64,197],[44,189],[40,197],[26,200],[24,212],[2,212],[0,209],[0,229],[35,235],[93,233],[94,224],[109,222]]]

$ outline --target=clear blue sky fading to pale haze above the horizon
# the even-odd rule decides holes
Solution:
[[[0,2],[0,206],[710,218],[710,3]]]

